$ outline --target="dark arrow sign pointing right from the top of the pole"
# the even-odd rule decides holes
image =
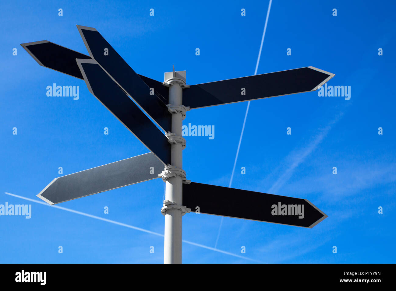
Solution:
[[[193,109],[315,91],[333,76],[318,68],[305,67],[191,85],[183,90],[183,105]]]

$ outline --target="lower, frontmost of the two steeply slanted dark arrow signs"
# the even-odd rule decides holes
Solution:
[[[160,129],[96,61],[77,59],[77,64],[89,91],[164,164],[171,164],[171,145]]]

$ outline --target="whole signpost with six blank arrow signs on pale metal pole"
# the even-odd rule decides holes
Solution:
[[[327,217],[305,199],[187,180],[181,128],[190,109],[315,91],[334,74],[305,67],[189,86],[186,72],[173,68],[165,73],[164,82],[158,82],[135,73],[96,29],[77,28],[89,56],[47,40],[21,46],[41,66],[83,79],[89,91],[150,152],[56,178],[39,198],[56,204],[162,177],[166,182],[161,209],[164,263],[182,262],[182,217],[190,211],[307,228]]]

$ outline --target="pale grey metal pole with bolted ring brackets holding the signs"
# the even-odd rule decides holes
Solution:
[[[173,77],[175,76],[175,70],[173,68]],[[168,202],[168,204],[172,204],[171,207],[165,209],[164,264],[182,263],[182,217],[185,212],[183,213],[181,209],[181,207],[183,207],[181,206],[183,205],[183,178],[181,175],[177,174],[177,170],[183,169],[183,144],[180,140],[184,139],[181,137],[181,127],[183,125],[183,88],[181,86],[183,86],[183,84],[180,81],[180,79],[174,78],[167,82],[169,85],[168,108],[173,108],[173,110],[169,110],[172,112],[171,134],[173,134],[173,141],[178,141],[171,143],[171,166],[176,169],[172,172],[172,168],[169,168],[171,173],[176,172],[176,174],[170,175],[165,182],[165,201]],[[172,141],[172,139],[170,140]],[[166,207],[165,202],[164,207]]]

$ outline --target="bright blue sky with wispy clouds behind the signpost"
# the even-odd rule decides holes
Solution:
[[[40,67],[19,44],[49,40],[88,54],[76,29],[84,25],[99,30],[137,73],[161,82],[172,65],[187,71],[188,84],[238,78],[254,74],[268,3],[183,2],[176,9],[163,1],[2,2],[2,193],[39,201],[58,167],[67,175],[147,152],[84,81]],[[225,218],[219,234],[221,217],[189,213],[183,239],[214,248],[219,237],[217,249],[227,253],[183,243],[183,262],[395,262],[395,6],[272,2],[257,74],[317,67],[335,73],[328,85],[351,86],[351,98],[309,92],[252,101],[232,187],[305,198],[329,217],[312,229]],[[47,97],[53,83],[80,86],[80,98]],[[186,137],[187,179],[228,186],[246,107],[187,112],[184,124],[215,127],[214,139]],[[59,206],[163,234],[163,196],[164,183],[155,179]],[[32,204],[32,217],[0,216],[2,263],[163,262],[161,236],[0,194],[6,202]],[[249,207],[243,198],[241,207]]]

